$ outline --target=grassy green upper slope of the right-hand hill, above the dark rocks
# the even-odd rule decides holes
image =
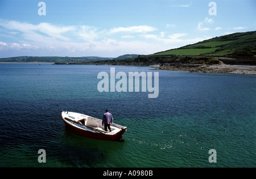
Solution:
[[[232,33],[213,39],[186,45],[181,48],[152,54],[152,56],[236,56],[254,57],[256,54],[256,31]]]

